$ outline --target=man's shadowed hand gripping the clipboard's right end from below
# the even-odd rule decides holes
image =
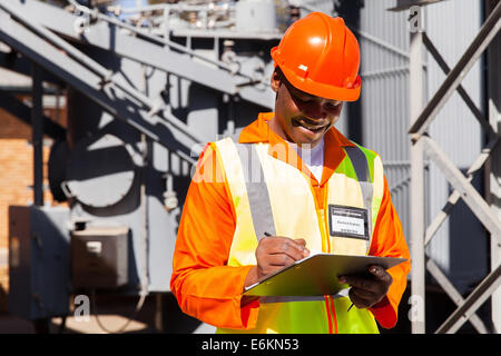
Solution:
[[[350,299],[357,308],[370,308],[380,303],[393,283],[392,276],[381,266],[370,266],[370,277],[341,276],[340,283],[348,284]]]

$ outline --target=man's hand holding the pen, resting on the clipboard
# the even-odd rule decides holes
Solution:
[[[302,238],[292,239],[282,236],[265,236],[257,245],[257,266],[249,270],[245,279],[245,286],[248,287],[259,279],[308,255],[310,250],[306,248],[306,241]]]

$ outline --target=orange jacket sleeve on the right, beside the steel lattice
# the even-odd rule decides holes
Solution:
[[[386,177],[384,177],[383,199],[377,214],[369,255],[406,258],[406,261],[387,270],[393,278],[393,283],[386,297],[370,308],[382,327],[392,328],[396,324],[399,304],[407,284],[407,274],[411,270],[411,256],[402,231],[402,225],[392,204]]]

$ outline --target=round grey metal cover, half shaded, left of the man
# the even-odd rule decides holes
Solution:
[[[61,187],[84,205],[105,208],[127,195],[134,176],[135,166],[124,141],[107,134],[78,141]]]

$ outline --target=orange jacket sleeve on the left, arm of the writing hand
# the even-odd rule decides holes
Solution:
[[[258,301],[242,306],[252,266],[227,266],[235,231],[235,212],[216,158],[207,145],[186,196],[173,259],[170,289],[181,310],[225,328],[252,328]]]

